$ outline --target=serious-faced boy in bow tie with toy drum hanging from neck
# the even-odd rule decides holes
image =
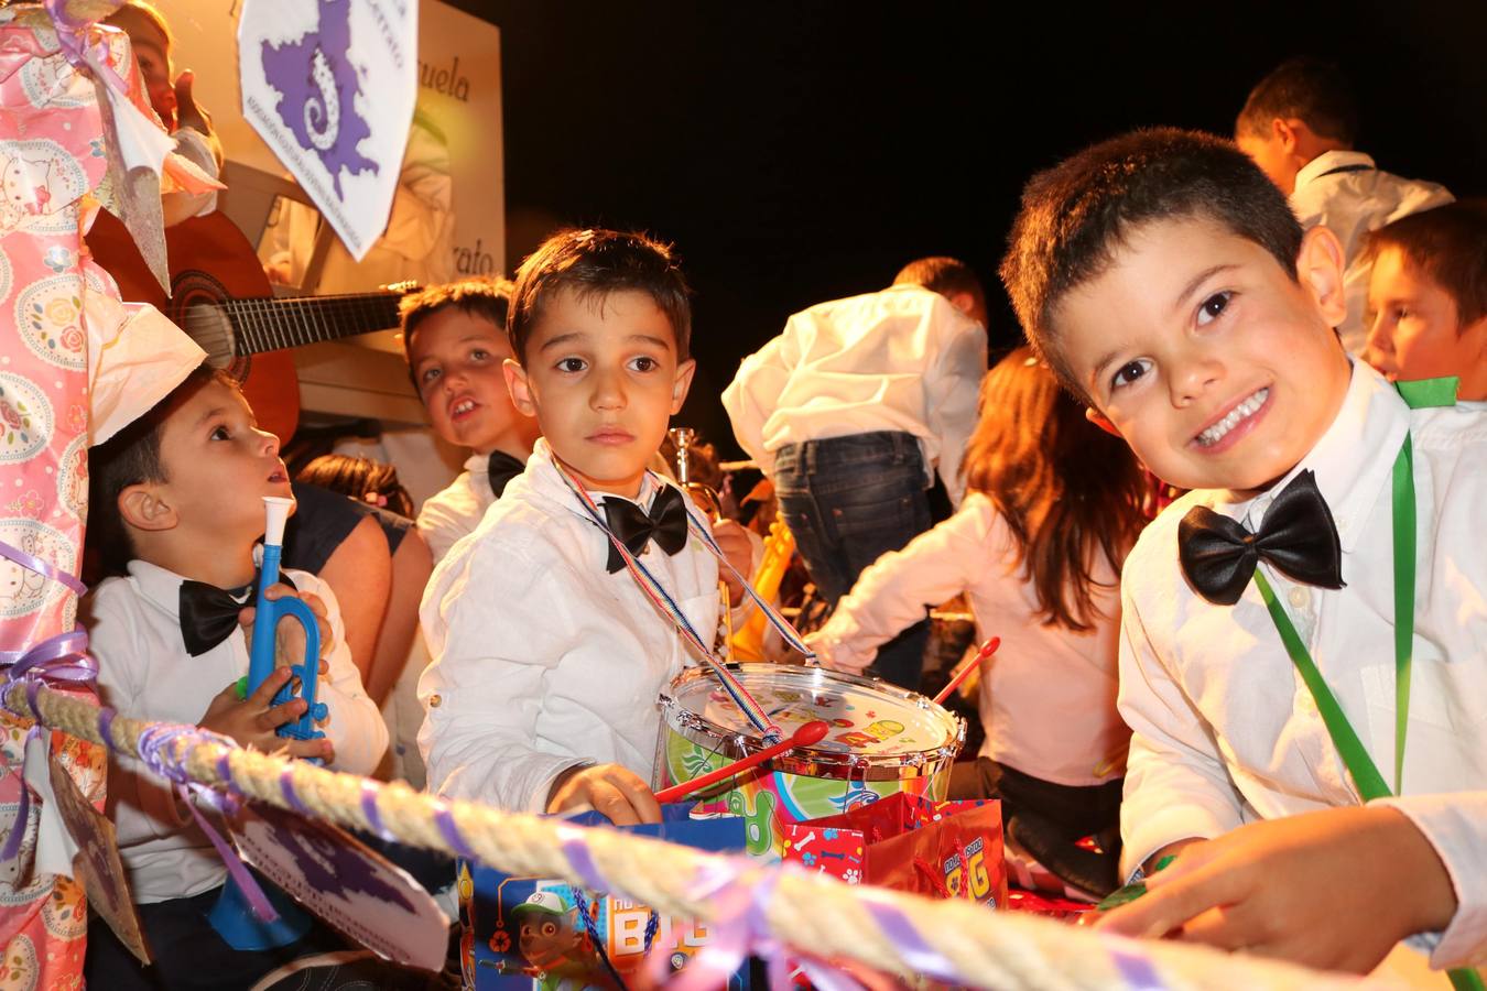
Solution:
[[[720,609],[706,523],[645,469],[691,385],[690,324],[644,235],[567,230],[517,272],[506,382],[543,440],[424,593],[419,747],[440,795],[659,822],[657,697],[702,660],[680,630],[711,645]],[[746,571],[742,527],[711,532]]]

